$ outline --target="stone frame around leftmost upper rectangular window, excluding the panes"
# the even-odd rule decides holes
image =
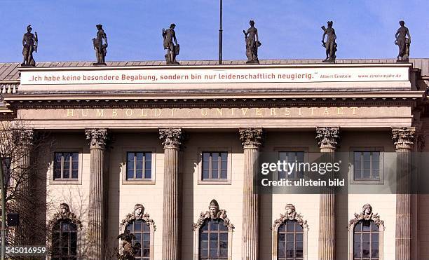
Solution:
[[[81,185],[82,184],[82,172],[83,172],[83,152],[82,148],[62,148],[62,147],[55,147],[50,154],[51,154],[51,160],[50,160],[50,182],[51,185]],[[76,179],[55,179],[55,153],[78,153],[78,177]]]

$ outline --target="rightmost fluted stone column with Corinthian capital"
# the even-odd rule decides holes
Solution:
[[[396,260],[412,259],[411,151],[415,128],[392,128],[396,150]]]

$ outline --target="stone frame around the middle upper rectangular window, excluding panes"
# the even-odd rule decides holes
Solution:
[[[198,174],[198,185],[231,185],[231,173],[232,173],[232,149],[231,147],[198,147],[197,161],[197,174]],[[203,179],[203,153],[219,153],[226,152],[226,179]]]

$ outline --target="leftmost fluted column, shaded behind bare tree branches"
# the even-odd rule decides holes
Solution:
[[[13,137],[16,144],[14,151],[13,162],[15,165],[15,172],[17,177],[22,178],[20,184],[18,184],[18,200],[20,212],[20,226],[17,230],[18,242],[20,245],[31,245],[33,231],[32,226],[32,200],[34,200],[32,194],[32,187],[30,186],[30,173],[32,170],[31,165],[31,152],[33,149],[34,142],[34,131],[32,129],[19,129],[13,130]]]

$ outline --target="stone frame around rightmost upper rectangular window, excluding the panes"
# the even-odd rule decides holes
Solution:
[[[379,179],[355,179],[355,152],[365,152],[365,151],[379,151]],[[355,146],[350,147],[349,150],[349,167],[348,167],[348,179],[350,184],[384,184],[384,148],[379,146]]]

